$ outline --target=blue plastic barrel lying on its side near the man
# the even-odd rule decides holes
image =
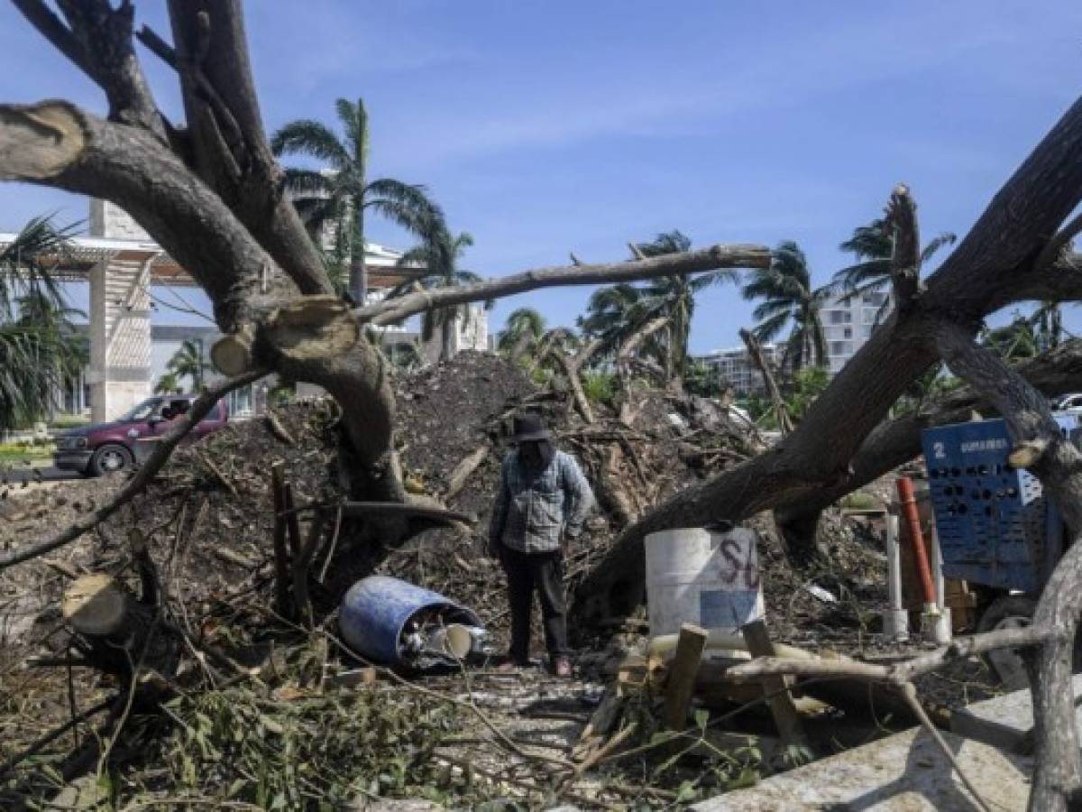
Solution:
[[[480,626],[480,618],[454,601],[398,578],[373,575],[352,587],[339,610],[339,630],[367,659],[403,665],[401,637],[419,612],[439,612],[444,623]]]

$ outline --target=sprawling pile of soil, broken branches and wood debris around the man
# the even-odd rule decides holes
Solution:
[[[452,362],[404,375],[395,389],[407,489],[476,522],[425,532],[397,549],[381,547],[374,574],[469,607],[493,636],[497,649],[505,643],[506,602],[502,575],[484,553],[500,462],[516,414],[543,414],[560,446],[580,460],[598,497],[598,515],[567,551],[572,588],[629,521],[764,447],[754,430],[724,408],[665,391],[636,392],[619,411],[598,405],[594,422],[588,423],[570,407],[566,393],[539,390],[514,364],[487,354],[462,353]],[[300,747],[302,738],[318,737],[316,731],[341,725],[342,735],[337,732],[333,742],[345,747],[356,733],[354,713],[398,744],[373,751],[371,763],[349,765],[343,784],[339,773],[344,768],[330,752],[338,745],[329,742],[322,755],[305,757],[313,772],[304,778],[309,788],[301,791],[341,799],[423,796],[467,804],[515,797],[650,806],[701,796],[768,769],[757,765],[762,759],[748,741],[757,733],[742,734],[739,746],[729,742],[723,759],[717,756],[721,739],[711,738],[716,731],[711,728],[708,736],[703,728],[702,735],[682,739],[688,747],[681,751],[705,754],[692,762],[702,768],[702,775],[713,777],[685,784],[690,773],[670,770],[676,763],[672,750],[659,752],[651,745],[659,730],[658,703],[663,698],[656,689],[663,684],[663,671],[645,657],[635,659],[645,628],[634,619],[596,630],[593,639],[608,647],[584,655],[580,668],[593,680],[559,684],[539,675],[507,678],[481,670],[470,672],[465,689],[462,675],[405,682],[353,660],[341,645],[332,615],[324,623],[317,617],[314,631],[286,623],[274,611],[269,471],[281,463],[296,505],[342,499],[335,418],[331,402],[317,401],[285,407],[270,421],[233,423],[181,449],[144,495],[94,534],[52,556],[0,573],[0,634],[5,636],[0,641],[0,762],[34,749],[35,739],[68,719],[69,694],[80,708],[106,703],[98,709],[107,715],[106,725],[118,722],[123,708],[108,705],[108,697],[123,686],[122,679],[78,667],[79,650],[71,647],[70,631],[56,607],[65,585],[91,572],[107,573],[138,593],[142,579],[132,551],[145,547],[167,620],[194,656],[159,686],[166,696],[175,696],[168,705],[171,732],[162,735],[160,719],[145,728],[129,723],[126,738],[140,731],[134,744],[109,754],[114,762],[128,764],[128,783],[118,790],[123,797],[153,796],[168,787],[224,797],[228,782],[240,782],[236,797],[288,807],[296,802],[288,793],[298,791],[303,782],[287,789],[274,786],[280,778],[277,772],[260,778],[263,773],[254,765],[275,771],[263,745]],[[0,551],[48,536],[100,505],[116,486],[110,481],[4,486]],[[752,524],[760,533],[775,639],[812,647],[859,647],[882,599],[876,592],[883,567],[879,539],[830,516],[822,539],[827,555],[795,564],[768,518]],[[319,552],[313,587],[326,594],[314,592],[314,603],[321,597],[325,607],[338,606],[342,593],[335,591],[334,569],[351,559],[355,541],[343,538],[337,554],[334,545]],[[367,543],[380,547],[379,539]],[[421,633],[422,627],[425,633],[432,631],[424,624],[415,631]],[[430,643],[422,641],[422,649],[432,647]],[[67,662],[76,666],[70,681]],[[623,697],[619,713],[605,704],[606,684],[613,681]],[[352,693],[340,700],[339,691]],[[604,713],[612,719],[606,721]],[[230,738],[228,731],[238,726],[245,734]],[[83,722],[74,734],[67,731],[58,737],[48,748],[45,763],[53,759],[63,774],[63,754],[75,745],[74,736],[85,744],[87,729]],[[144,741],[153,741],[153,747],[140,745]],[[198,754],[193,755],[193,747]],[[632,754],[643,748],[646,755],[618,758],[629,748]],[[737,751],[743,755],[734,756]],[[210,769],[210,760],[219,757],[221,763],[236,759],[252,765],[256,777]],[[159,768],[157,777],[154,770],[144,769],[149,764]],[[423,769],[414,770],[418,765]],[[604,782],[596,777],[602,769],[609,771]],[[436,789],[425,795],[410,775],[427,776]],[[18,769],[0,775],[0,787],[25,793],[31,778],[41,781],[40,770],[19,761]],[[277,801],[281,793],[287,793],[286,799]]]

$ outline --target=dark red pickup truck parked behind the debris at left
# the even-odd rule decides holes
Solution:
[[[119,420],[94,423],[56,435],[53,464],[64,471],[78,471],[87,476],[121,471],[141,460],[153,443],[143,437],[164,434],[173,421],[192,408],[198,395],[162,395],[148,397]],[[194,442],[223,428],[229,420],[228,408],[219,401],[185,438]]]

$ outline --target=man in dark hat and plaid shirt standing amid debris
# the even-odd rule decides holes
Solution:
[[[562,542],[582,532],[593,507],[590,483],[575,458],[559,451],[539,415],[515,418],[488,532],[489,552],[507,574],[511,651],[505,668],[529,665],[533,590],[541,599],[550,666],[571,676]]]

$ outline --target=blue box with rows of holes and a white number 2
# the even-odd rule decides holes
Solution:
[[[1076,415],[1056,421],[1070,436]],[[1007,464],[1003,420],[927,429],[922,434],[944,575],[1038,592],[1060,551],[1061,522],[1040,481]]]

